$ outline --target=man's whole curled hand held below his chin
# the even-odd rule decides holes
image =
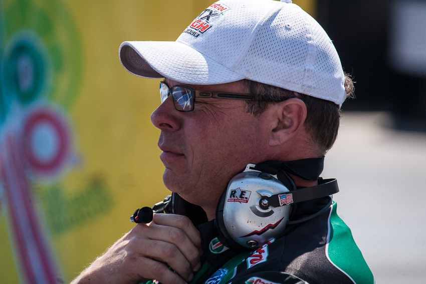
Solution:
[[[201,253],[199,232],[187,217],[154,214],[151,223],[137,224],[72,283],[185,283],[200,268]]]

